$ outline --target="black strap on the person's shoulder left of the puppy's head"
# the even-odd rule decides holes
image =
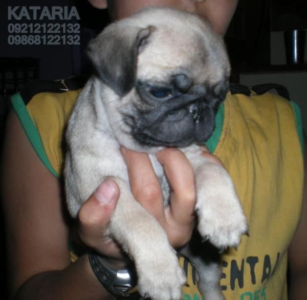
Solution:
[[[20,95],[25,104],[28,104],[29,101],[38,93],[64,93],[64,91],[82,88],[87,79],[89,78],[79,76],[60,80],[29,81],[20,89]]]

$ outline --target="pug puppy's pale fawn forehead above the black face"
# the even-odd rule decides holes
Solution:
[[[202,20],[188,16],[151,20],[155,30],[138,57],[139,79],[159,81],[184,73],[195,83],[215,83],[229,72],[222,38]]]

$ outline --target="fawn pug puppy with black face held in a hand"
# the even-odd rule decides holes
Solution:
[[[179,147],[195,173],[201,236],[194,239],[198,246],[191,243],[182,252],[198,270],[203,297],[224,299],[216,248],[236,247],[247,222],[229,174],[203,157],[198,145],[213,132],[217,106],[229,87],[222,38],[193,14],[147,8],[109,25],[88,53],[96,73],[76,102],[66,135],[64,178],[71,215],[77,216],[102,180],[114,179],[121,193],[108,235],[134,260],[140,294],[180,299],[186,278],[176,251],[131,194],[120,152],[124,146],[150,155],[167,204],[169,187],[155,153]]]

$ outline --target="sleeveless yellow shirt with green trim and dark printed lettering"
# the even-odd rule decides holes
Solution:
[[[20,94],[13,107],[35,151],[60,176],[63,128],[80,90],[39,93],[27,106]],[[228,95],[207,142],[230,173],[249,223],[237,250],[222,256],[221,287],[229,300],[287,299],[287,249],[301,215],[302,134],[298,107],[273,95]],[[72,253],[72,260],[76,257]],[[188,274],[183,300],[202,299],[195,270]]]

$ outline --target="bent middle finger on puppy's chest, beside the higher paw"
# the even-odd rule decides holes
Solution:
[[[168,148],[156,153],[163,166],[172,193],[170,197],[170,217],[168,221],[184,226],[192,224],[196,202],[193,169],[180,150]]]

